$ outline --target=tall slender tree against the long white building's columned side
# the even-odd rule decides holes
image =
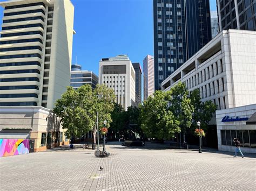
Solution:
[[[194,111],[194,107],[189,96],[190,93],[186,89],[185,83],[181,82],[173,86],[169,93],[171,96],[169,109],[173,113],[176,120],[180,122],[179,126],[184,133],[185,142],[185,133],[192,124],[192,113]]]

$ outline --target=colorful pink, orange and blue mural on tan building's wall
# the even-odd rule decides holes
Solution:
[[[0,139],[0,157],[29,153],[29,139]]]

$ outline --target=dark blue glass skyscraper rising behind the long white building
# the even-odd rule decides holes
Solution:
[[[211,40],[208,0],[154,0],[154,88]]]

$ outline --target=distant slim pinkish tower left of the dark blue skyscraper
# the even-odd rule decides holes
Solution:
[[[143,100],[146,100],[154,93],[154,56],[143,59],[143,84]]]

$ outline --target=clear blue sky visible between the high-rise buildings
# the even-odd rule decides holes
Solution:
[[[0,0],[3,2],[3,0]],[[71,0],[75,6],[72,63],[98,75],[101,58],[128,54],[142,65],[153,55],[153,0]],[[216,10],[215,0],[210,0]],[[3,9],[0,8],[2,24]]]

